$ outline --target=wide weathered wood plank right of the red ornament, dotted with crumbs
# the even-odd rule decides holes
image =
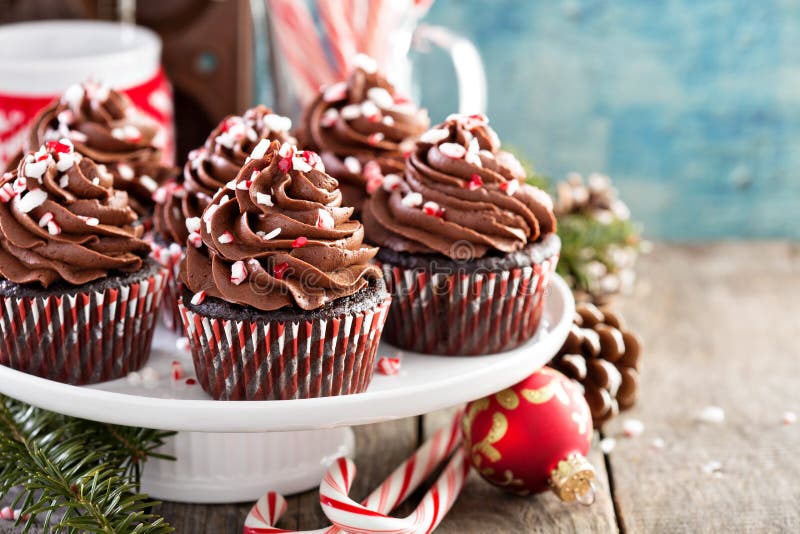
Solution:
[[[642,394],[609,428],[646,425],[610,455],[625,530],[800,532],[800,424],[781,424],[800,412],[800,246],[659,245],[640,272],[620,304],[645,341]],[[708,405],[724,423],[693,420]]]

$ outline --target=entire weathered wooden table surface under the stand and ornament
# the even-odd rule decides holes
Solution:
[[[800,532],[800,423],[782,424],[784,412],[800,412],[800,245],[659,244],[639,272],[619,304],[645,341],[641,395],[605,429],[616,447],[593,448],[596,503],[506,495],[473,473],[437,532]],[[723,423],[697,420],[709,405],[725,410]],[[356,428],[351,496],[366,496],[447,417]],[[622,437],[626,418],[641,420],[643,435]],[[707,472],[711,462],[721,468]],[[248,508],[157,512],[180,533],[220,534],[241,532]],[[323,525],[316,491],[291,497],[279,524]]]

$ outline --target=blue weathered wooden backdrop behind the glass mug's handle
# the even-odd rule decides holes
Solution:
[[[800,237],[800,2],[437,0],[479,47],[501,138],[537,170],[601,171],[651,237]],[[453,110],[422,58],[423,103]]]

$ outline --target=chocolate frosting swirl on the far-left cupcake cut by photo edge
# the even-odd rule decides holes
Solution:
[[[0,275],[48,287],[138,271],[150,246],[127,193],[112,184],[67,139],[23,157],[0,180]]]

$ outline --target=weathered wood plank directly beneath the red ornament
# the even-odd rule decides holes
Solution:
[[[426,435],[447,424],[451,413],[452,410],[442,410],[426,415]],[[517,497],[504,493],[472,472],[453,509],[437,532],[615,532],[617,523],[604,459],[596,446],[592,448],[589,461],[597,469],[597,500],[592,506],[564,504],[551,493]]]

